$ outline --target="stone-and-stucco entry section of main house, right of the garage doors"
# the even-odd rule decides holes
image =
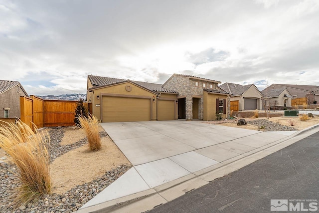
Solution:
[[[218,83],[221,82],[173,74],[162,87],[178,92],[178,118],[213,120],[216,119],[216,111],[220,111],[223,118],[230,115],[230,94],[220,89]]]

